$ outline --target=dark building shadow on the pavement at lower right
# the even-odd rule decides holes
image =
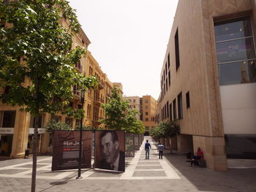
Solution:
[[[227,172],[213,171],[199,166],[190,166],[185,155],[164,153],[165,158],[178,172],[181,179],[187,179],[198,191],[256,191],[256,169],[228,169]],[[185,178],[184,178],[185,177]]]

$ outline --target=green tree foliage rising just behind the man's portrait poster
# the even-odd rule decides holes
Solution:
[[[121,98],[120,90],[114,87],[111,90],[110,101],[102,104],[106,118],[101,120],[105,128],[111,130],[125,130],[128,133],[143,134],[145,126],[136,118],[137,110],[128,110],[129,101]]]

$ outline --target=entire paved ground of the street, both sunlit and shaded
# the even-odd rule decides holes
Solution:
[[[191,167],[184,155],[167,151],[159,159],[151,137],[145,139],[152,146],[148,160],[140,147],[135,158],[126,158],[126,172],[83,170],[83,180],[75,180],[77,170],[50,172],[51,157],[39,156],[37,191],[256,191],[256,169],[214,172]],[[31,166],[32,158],[0,161],[0,191],[30,191]]]

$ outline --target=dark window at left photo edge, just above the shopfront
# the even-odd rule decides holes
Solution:
[[[0,127],[14,128],[16,111],[0,111]]]

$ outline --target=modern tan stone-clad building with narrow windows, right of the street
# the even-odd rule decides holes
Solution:
[[[254,0],[178,2],[161,72],[159,120],[177,119],[177,150],[208,168],[256,158]]]

